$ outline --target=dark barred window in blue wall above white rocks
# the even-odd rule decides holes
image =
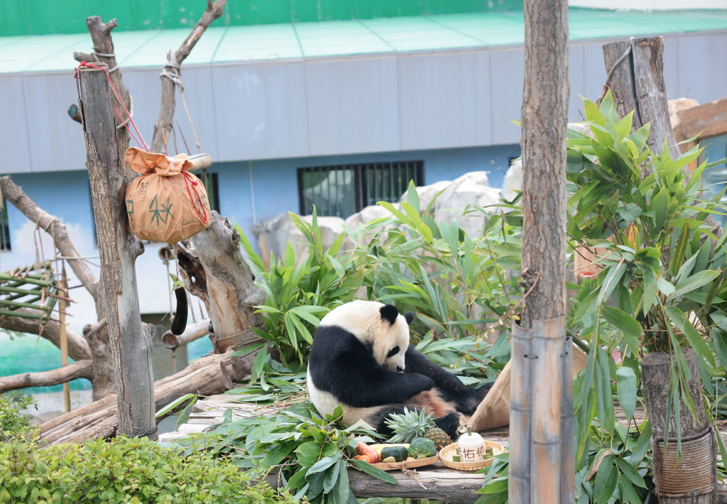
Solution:
[[[338,164],[298,168],[300,215],[346,218],[378,201],[399,201],[409,187],[424,185],[424,161]]]

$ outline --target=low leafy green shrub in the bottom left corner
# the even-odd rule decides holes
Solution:
[[[295,503],[225,460],[187,457],[148,439],[119,437],[41,448],[0,444],[2,503]]]

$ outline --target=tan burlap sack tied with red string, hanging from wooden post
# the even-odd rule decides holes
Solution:
[[[169,157],[131,147],[124,162],[142,174],[126,188],[126,215],[139,239],[175,244],[209,227],[207,191],[186,171],[192,167],[187,154]]]

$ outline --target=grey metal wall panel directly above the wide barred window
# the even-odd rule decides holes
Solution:
[[[395,57],[305,64],[310,155],[398,151]]]

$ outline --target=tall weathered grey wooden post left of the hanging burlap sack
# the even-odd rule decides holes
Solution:
[[[105,63],[97,65],[105,68]],[[151,370],[154,326],[140,319],[134,267],[144,247],[129,230],[126,217],[116,114],[103,68],[79,69],[79,100],[116,376],[119,433],[156,438]]]

